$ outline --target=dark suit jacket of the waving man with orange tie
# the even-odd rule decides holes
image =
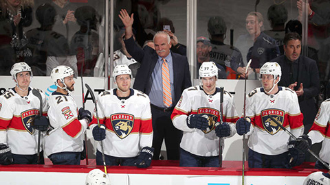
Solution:
[[[124,40],[126,49],[129,54],[137,61],[141,66],[137,71],[133,88],[146,92],[146,85],[148,84],[153,69],[155,68],[158,55],[151,47],[144,47],[142,50],[135,44],[133,38]],[[181,93],[185,88],[191,86],[189,64],[186,56],[181,56],[177,53],[171,52],[173,60],[173,76],[174,76],[174,99],[173,105],[177,104],[181,97]]]

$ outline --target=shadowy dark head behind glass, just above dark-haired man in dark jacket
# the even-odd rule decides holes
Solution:
[[[267,19],[272,29],[265,30],[264,33],[276,40],[276,45],[283,45],[285,36],[285,22],[287,22],[287,8],[284,5],[271,5],[267,11]],[[279,48],[281,51],[281,47]],[[282,50],[283,51],[283,50]]]

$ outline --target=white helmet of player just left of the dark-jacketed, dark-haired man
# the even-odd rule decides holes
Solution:
[[[280,64],[278,64],[277,62],[266,62],[265,64],[263,64],[263,66],[261,66],[259,80],[262,79],[262,75],[273,75],[274,77],[272,89],[266,92],[270,93],[274,89],[275,85],[281,80],[282,71]],[[276,79],[278,79],[278,82],[275,83]]]

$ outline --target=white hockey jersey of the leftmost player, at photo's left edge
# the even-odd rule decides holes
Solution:
[[[42,93],[43,115],[48,104]],[[12,153],[34,155],[38,148],[38,132],[32,128],[34,116],[39,114],[40,101],[29,88],[28,96],[21,97],[14,88],[0,96],[0,143],[9,145]],[[42,142],[43,138],[41,138]],[[42,146],[41,146],[42,148]],[[42,149],[41,149],[42,150]]]

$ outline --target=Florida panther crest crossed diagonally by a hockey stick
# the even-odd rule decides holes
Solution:
[[[261,121],[263,122],[265,131],[271,135],[274,135],[281,130],[281,127],[278,127],[278,125],[276,125],[276,123],[272,121],[268,115],[272,116],[276,119],[276,121],[278,121],[278,123],[283,125],[285,112],[279,109],[267,109],[261,111]]]

